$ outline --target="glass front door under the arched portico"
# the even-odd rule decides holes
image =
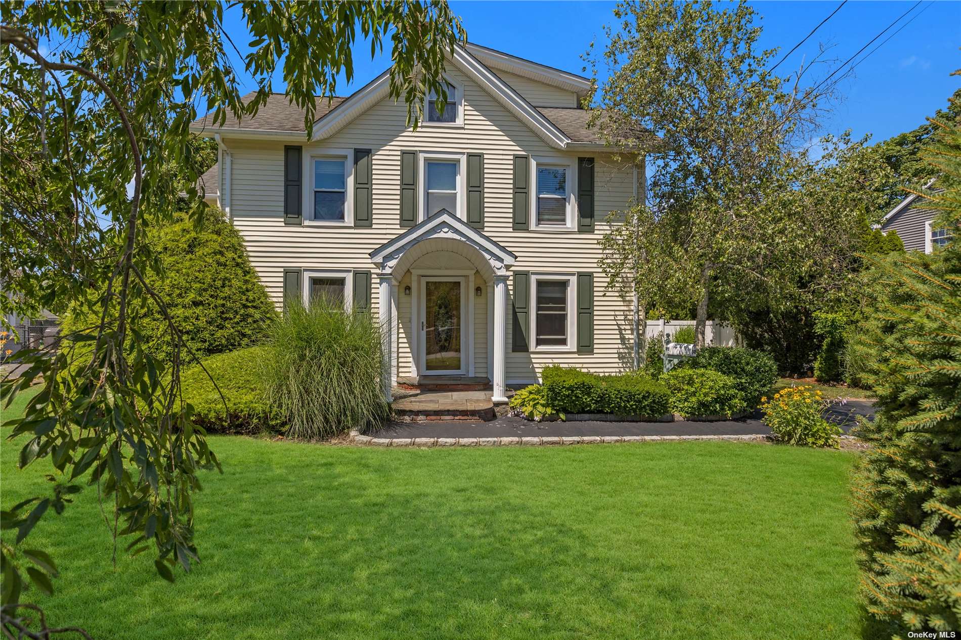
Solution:
[[[463,375],[464,281],[462,278],[421,278],[421,340],[426,375]]]

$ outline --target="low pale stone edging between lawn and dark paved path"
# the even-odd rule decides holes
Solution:
[[[747,435],[570,435],[500,438],[375,438],[351,431],[351,439],[359,445],[373,447],[508,447],[575,444],[619,444],[628,442],[673,442],[676,440],[730,440],[763,442],[771,439],[764,433]]]

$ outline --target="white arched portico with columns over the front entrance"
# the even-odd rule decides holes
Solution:
[[[384,394],[390,400],[392,371],[397,357],[397,288],[401,279],[420,258],[434,252],[455,253],[477,269],[480,277],[493,283],[493,367],[491,381],[494,402],[506,402],[505,356],[507,278],[517,258],[502,245],[474,229],[454,214],[441,213],[385,242],[371,252],[380,270],[380,308],[386,354]],[[473,272],[472,272],[473,273]],[[468,292],[473,295],[472,292]]]

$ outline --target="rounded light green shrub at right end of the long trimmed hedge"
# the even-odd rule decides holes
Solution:
[[[671,411],[682,416],[724,415],[745,408],[737,382],[710,369],[676,368],[660,378],[671,392]]]

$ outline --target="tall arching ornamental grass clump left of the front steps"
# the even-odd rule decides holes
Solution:
[[[264,360],[268,402],[292,437],[318,439],[381,424],[381,332],[370,313],[317,299],[292,302],[271,331]]]

